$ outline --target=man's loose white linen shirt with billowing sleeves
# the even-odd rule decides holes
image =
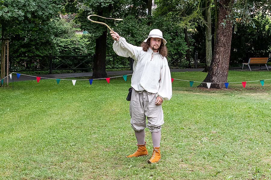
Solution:
[[[153,52],[151,48],[145,52],[142,47],[127,43],[123,37],[114,41],[113,49],[117,55],[131,57],[135,60],[131,86],[136,91],[145,90],[156,93],[156,97],[161,97],[163,101],[170,100],[172,85],[166,57],[163,57],[159,52]]]

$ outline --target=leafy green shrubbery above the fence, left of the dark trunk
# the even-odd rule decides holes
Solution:
[[[89,35],[76,35],[73,26],[73,22],[54,18],[47,26],[10,34],[10,55],[93,54],[94,45]]]

